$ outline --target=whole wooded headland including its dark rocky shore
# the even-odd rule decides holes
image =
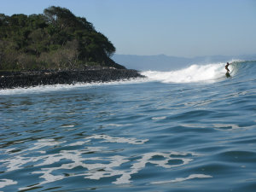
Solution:
[[[108,38],[66,8],[0,15],[0,89],[143,77],[113,61]]]

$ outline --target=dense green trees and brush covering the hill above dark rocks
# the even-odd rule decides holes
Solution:
[[[85,18],[65,8],[42,15],[0,14],[0,70],[112,66],[115,48]]]

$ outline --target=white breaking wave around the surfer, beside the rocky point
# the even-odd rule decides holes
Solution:
[[[250,61],[230,61],[230,75],[236,76],[241,67],[248,67]],[[195,83],[195,82],[216,82],[225,79],[226,63],[214,63],[207,65],[192,65],[190,67],[170,72],[147,71],[142,74],[152,81],[162,83]]]

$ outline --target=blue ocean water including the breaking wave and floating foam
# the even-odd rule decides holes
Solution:
[[[256,191],[256,62],[0,90],[0,191]]]

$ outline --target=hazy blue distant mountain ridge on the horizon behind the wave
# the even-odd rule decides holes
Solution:
[[[176,57],[168,55],[113,55],[113,61],[127,68],[140,71],[170,71],[188,67],[192,64],[209,64],[216,62],[227,62],[231,60],[256,60],[256,55],[240,56],[198,56],[193,58]]]

